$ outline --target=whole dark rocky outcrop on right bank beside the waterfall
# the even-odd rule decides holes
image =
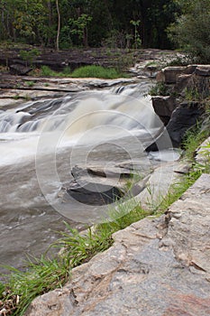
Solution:
[[[210,96],[210,65],[189,65],[186,67],[167,67],[157,75],[157,81],[161,82],[169,91],[169,96],[152,97],[152,106],[155,113],[160,116],[166,125],[173,146],[178,147],[188,128],[201,120],[205,112],[204,98]],[[151,144],[147,151],[155,151],[160,139]]]

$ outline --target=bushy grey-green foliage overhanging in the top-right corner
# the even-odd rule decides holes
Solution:
[[[209,0],[179,0],[182,9],[176,23],[169,26],[169,38],[187,51],[196,62],[210,62]]]

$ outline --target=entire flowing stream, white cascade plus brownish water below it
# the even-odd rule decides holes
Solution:
[[[148,83],[0,107],[0,264],[23,267],[64,229],[105,217],[106,207],[59,199],[75,165],[142,163],[162,131]]]

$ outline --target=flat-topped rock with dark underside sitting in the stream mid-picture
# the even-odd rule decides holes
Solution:
[[[65,185],[62,191],[87,205],[105,205],[123,197],[126,181],[132,178],[133,173],[118,166],[90,165],[75,166],[71,174],[74,180]],[[67,199],[67,195],[62,198]]]

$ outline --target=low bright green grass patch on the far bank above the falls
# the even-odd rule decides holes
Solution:
[[[71,73],[72,78],[103,78],[115,79],[122,76],[117,70],[113,68],[104,68],[101,66],[84,66]]]

